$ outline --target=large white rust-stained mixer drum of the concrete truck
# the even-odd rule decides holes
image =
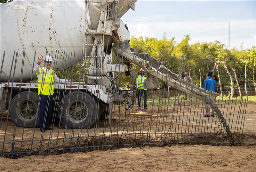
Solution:
[[[89,8],[99,8],[97,11],[102,9],[102,5],[99,3],[89,4]],[[59,57],[56,59],[57,70],[61,70],[64,51],[73,54],[76,52],[74,63],[81,61],[85,42],[85,28],[89,27],[88,22],[85,25],[87,12],[85,1],[13,1],[0,6],[1,63],[5,50],[1,82],[8,81],[14,50],[19,49],[15,76],[12,78],[12,69],[10,78],[14,82],[20,81],[23,48],[26,48],[26,54],[22,82],[30,81],[35,50],[35,64],[39,54],[45,55],[46,48],[54,58],[53,60],[55,60],[56,50],[59,50]],[[94,10],[90,9],[90,11]],[[92,18],[87,13],[87,18],[95,24],[99,21],[100,12],[93,13]],[[92,28],[92,25],[90,25],[90,29],[97,29],[97,27]],[[87,37],[87,43],[93,43],[92,37]],[[90,48],[87,48],[87,50],[87,53],[91,51]],[[73,55],[72,62],[68,66],[71,66],[72,63]],[[65,68],[68,66],[66,63]],[[33,78],[36,78],[35,72]]]

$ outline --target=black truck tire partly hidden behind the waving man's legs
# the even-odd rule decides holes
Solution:
[[[18,99],[19,95],[16,95],[13,97],[10,104],[10,117],[12,122],[15,123],[17,116],[16,124],[19,127],[33,128],[35,125],[37,127],[39,125],[39,111],[37,113],[38,95],[35,92],[24,91],[20,93],[19,103]]]

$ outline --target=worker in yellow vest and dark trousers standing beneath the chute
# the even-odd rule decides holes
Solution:
[[[140,75],[138,75],[137,79],[136,79],[136,88],[137,88],[137,93],[139,94],[138,96],[138,108],[140,109],[140,100],[141,97],[143,95],[143,100],[144,100],[144,109],[148,109],[147,108],[147,96],[148,96],[148,90],[143,88],[143,82],[145,81],[145,79],[147,78],[146,76],[144,76],[144,69],[140,69]]]

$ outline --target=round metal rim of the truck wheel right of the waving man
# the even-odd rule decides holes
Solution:
[[[75,123],[83,122],[88,116],[88,108],[81,101],[72,101],[66,109],[68,119]]]

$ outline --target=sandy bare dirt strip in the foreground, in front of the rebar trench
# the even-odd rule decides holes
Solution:
[[[255,162],[256,146],[183,145],[1,157],[1,171],[255,171]]]

